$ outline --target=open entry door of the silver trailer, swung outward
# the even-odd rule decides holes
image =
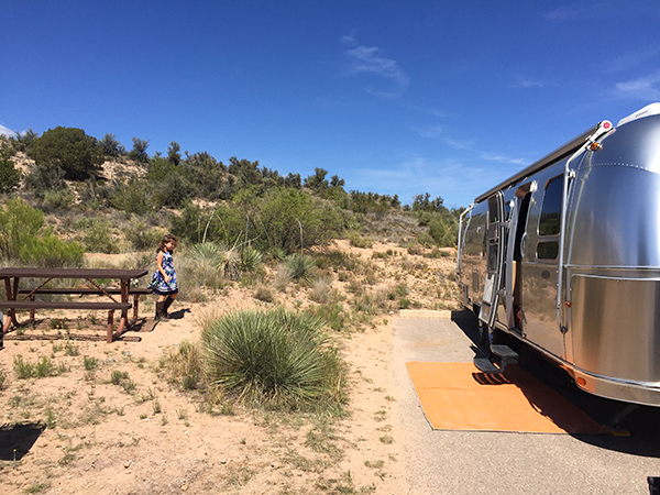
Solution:
[[[479,319],[488,327],[495,323],[502,272],[504,266],[504,195],[497,191],[488,198],[488,226],[486,229],[486,282]]]

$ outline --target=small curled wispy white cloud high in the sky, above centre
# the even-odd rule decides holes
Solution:
[[[356,43],[353,34],[342,36],[340,41],[343,44]],[[346,70],[348,76],[371,74],[389,82],[386,89],[365,88],[367,92],[381,98],[397,98],[408,89],[408,85],[410,84],[408,74],[396,61],[383,56],[378,47],[359,45],[346,50],[344,55],[350,61]]]

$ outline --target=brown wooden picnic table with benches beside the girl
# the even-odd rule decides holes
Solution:
[[[131,288],[131,280],[143,277],[147,274],[146,270],[106,270],[106,268],[0,268],[0,280],[4,279],[4,288],[7,299],[0,300],[0,308],[7,308],[7,316],[2,328],[2,333],[7,333],[11,324],[21,326],[16,320],[16,309],[30,309],[30,317],[34,319],[34,309],[91,309],[91,310],[108,310],[108,327],[107,342],[112,342],[113,338],[113,315],[114,311],[121,311],[121,319],[117,334],[121,334],[124,330],[129,309],[133,306],[129,301],[129,297],[135,297],[134,319],[138,319],[138,300],[141,294],[147,294],[147,289]],[[21,278],[37,278],[43,279],[36,287],[21,288]],[[45,287],[45,285],[54,278],[74,278],[86,279],[92,287]],[[119,288],[108,287],[105,280],[119,280]],[[24,294],[19,299],[18,296]],[[105,296],[101,301],[45,301],[35,298],[38,294],[78,294]],[[117,300],[113,296],[120,296]],[[29,320],[30,321],[30,320]]]

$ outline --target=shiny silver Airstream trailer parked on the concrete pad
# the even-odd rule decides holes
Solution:
[[[501,356],[480,369],[514,362],[513,336],[586,392],[660,406],[660,103],[479,196],[461,216],[458,273]]]

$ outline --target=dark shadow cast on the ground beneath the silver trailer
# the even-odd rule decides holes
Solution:
[[[452,311],[452,321],[472,341],[476,355],[485,355],[479,343],[477,319],[472,311]],[[585,411],[592,419],[606,428],[628,406],[619,400],[597,397],[581,391],[564,371],[554,366],[531,348],[522,344],[519,365],[564,398]],[[580,441],[617,452],[660,458],[660,407],[639,406],[620,420],[622,431],[616,435],[575,435]]]

